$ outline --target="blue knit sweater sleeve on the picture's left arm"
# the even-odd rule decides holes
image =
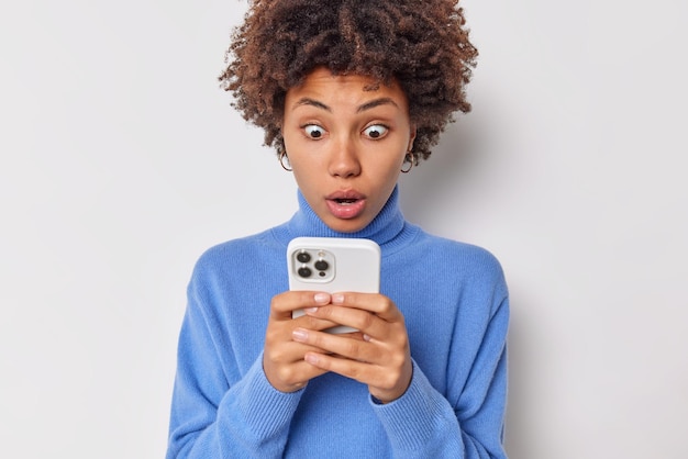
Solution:
[[[236,374],[234,344],[208,277],[197,273],[189,286],[167,459],[281,457],[301,392],[275,390],[259,351],[247,372]]]

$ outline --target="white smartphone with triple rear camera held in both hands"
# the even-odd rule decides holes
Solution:
[[[289,290],[328,293],[378,293],[380,290],[380,247],[369,239],[297,237],[287,247],[287,265]],[[292,313],[292,317],[301,315],[301,310]],[[341,325],[326,332],[356,329]]]

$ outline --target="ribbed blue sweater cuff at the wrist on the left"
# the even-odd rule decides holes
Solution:
[[[242,384],[238,410],[251,432],[257,438],[286,434],[303,389],[289,393],[275,389],[263,371],[263,354],[245,374]]]

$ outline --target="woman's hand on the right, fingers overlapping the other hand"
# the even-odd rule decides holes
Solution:
[[[321,300],[324,300],[324,295]],[[333,371],[368,385],[382,403],[397,400],[411,383],[412,365],[403,315],[387,296],[377,293],[334,293],[329,302],[306,309],[308,316],[326,323],[348,325],[359,332],[334,335],[324,327],[292,327],[299,347],[293,358],[303,354],[308,374]],[[322,322],[319,322],[322,325]]]

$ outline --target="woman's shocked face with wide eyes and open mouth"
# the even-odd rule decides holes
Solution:
[[[282,137],[303,197],[332,229],[363,229],[391,194],[415,130],[398,85],[312,71],[289,89]]]

